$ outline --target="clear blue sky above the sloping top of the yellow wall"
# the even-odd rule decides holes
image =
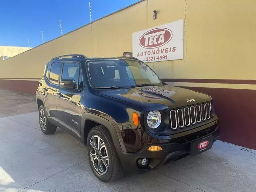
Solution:
[[[77,29],[139,0],[0,0],[0,45],[30,46]]]

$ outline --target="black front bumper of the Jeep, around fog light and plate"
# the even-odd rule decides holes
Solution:
[[[219,137],[219,132],[219,125],[216,123],[207,129],[193,134],[171,139],[168,143],[151,143],[133,153],[120,152],[119,158],[126,171],[138,173],[147,172],[153,168],[162,166],[167,161],[175,161],[189,155],[190,143],[195,140],[212,136],[213,141],[216,141]],[[162,151],[148,151],[150,146],[160,146]],[[138,166],[137,162],[142,158],[147,158],[149,160],[148,165],[145,167]]]

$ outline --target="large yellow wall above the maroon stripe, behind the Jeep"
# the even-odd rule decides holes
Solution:
[[[149,63],[161,78],[256,79],[255,7],[255,0],[145,0],[0,61],[0,78],[41,78],[58,55],[122,56],[132,52],[133,32],[184,18],[185,59]]]

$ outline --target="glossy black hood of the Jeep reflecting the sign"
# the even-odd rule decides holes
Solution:
[[[99,90],[99,94],[126,101],[146,111],[176,108],[211,100],[209,95],[170,85],[104,89]]]

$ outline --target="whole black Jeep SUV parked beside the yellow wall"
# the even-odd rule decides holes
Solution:
[[[84,143],[103,182],[204,152],[219,137],[209,95],[167,85],[132,57],[53,58],[36,99],[42,132],[58,126]]]

